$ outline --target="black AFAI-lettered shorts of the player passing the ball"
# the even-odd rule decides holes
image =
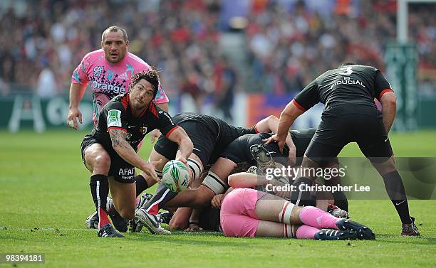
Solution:
[[[82,161],[85,166],[85,149],[92,144],[100,143],[90,134],[86,135],[81,144]],[[110,157],[108,177],[114,177],[115,181],[118,181],[119,183],[134,183],[135,167],[122,159],[113,148],[105,148],[105,150],[108,152]]]

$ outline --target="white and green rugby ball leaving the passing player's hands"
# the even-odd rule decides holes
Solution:
[[[190,183],[190,173],[185,164],[178,160],[168,161],[162,170],[162,183],[175,193],[185,190]]]

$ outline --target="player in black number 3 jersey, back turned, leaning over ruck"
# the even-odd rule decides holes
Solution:
[[[374,98],[382,104],[381,112]],[[326,105],[321,123],[309,144],[303,167],[316,168],[321,161],[338,156],[346,144],[357,142],[360,151],[382,176],[386,191],[402,223],[402,235],[420,235],[410,217],[403,181],[395,168],[388,133],[395,119],[396,99],[388,80],[377,68],[346,63],[328,70],[310,82],[286,105],[279,130],[268,142],[277,141],[282,150],[289,127],[299,115],[318,102]],[[297,178],[294,185],[311,184],[311,176]],[[308,192],[296,191],[296,199],[308,199]]]

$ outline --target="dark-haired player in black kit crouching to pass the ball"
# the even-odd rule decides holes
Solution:
[[[100,111],[98,124],[86,135],[81,144],[83,164],[92,173],[90,190],[98,213],[98,236],[123,237],[108,220],[110,210],[121,217],[133,219],[135,215],[135,167],[158,181],[155,166],[137,155],[137,146],[153,129],[160,129],[166,138],[177,144],[177,159],[186,164],[192,154],[192,141],[167,112],[152,102],[159,87],[155,70],[132,75],[129,92],[118,95]],[[107,205],[108,193],[113,208]]]

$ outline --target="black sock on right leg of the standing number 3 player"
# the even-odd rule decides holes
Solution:
[[[408,198],[405,194],[403,180],[400,174],[398,171],[392,171],[382,177],[389,198],[400,216],[401,223],[412,223],[409,214]]]

